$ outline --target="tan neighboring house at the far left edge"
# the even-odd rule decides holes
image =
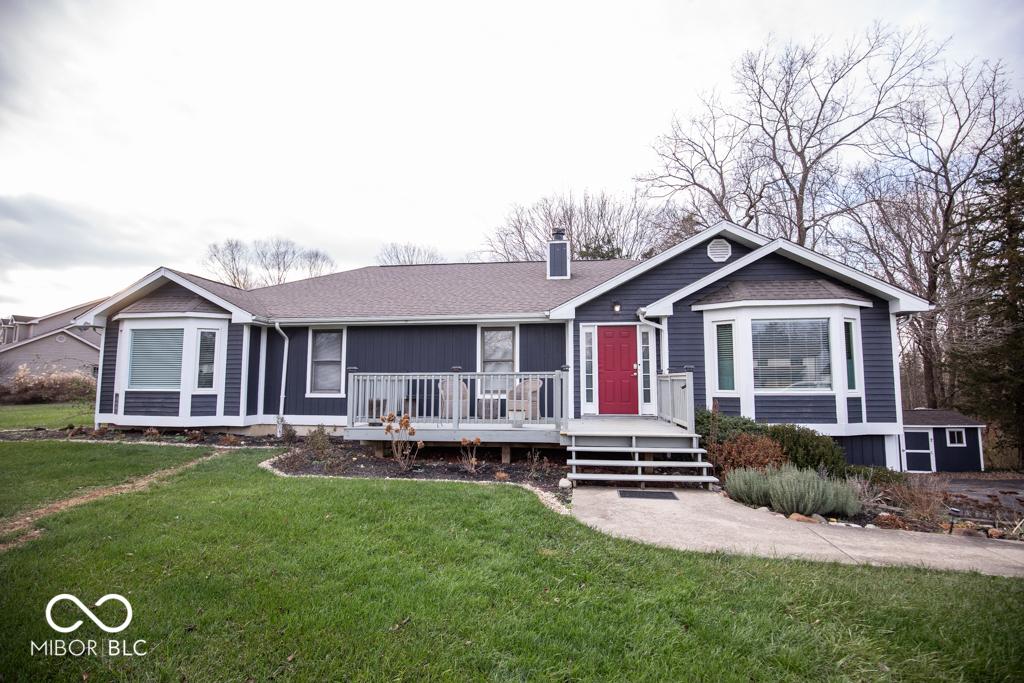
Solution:
[[[22,366],[33,373],[76,372],[96,377],[101,331],[79,329],[74,321],[102,299],[33,317],[0,318],[0,383]]]

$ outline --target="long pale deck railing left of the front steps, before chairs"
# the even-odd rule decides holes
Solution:
[[[408,415],[414,424],[560,426],[571,396],[567,373],[359,373],[348,375],[348,424]]]

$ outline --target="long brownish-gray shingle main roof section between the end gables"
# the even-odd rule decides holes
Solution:
[[[368,266],[241,290],[177,274],[256,315],[273,318],[539,313],[596,287],[636,261],[573,261],[569,280],[548,280],[544,261]]]

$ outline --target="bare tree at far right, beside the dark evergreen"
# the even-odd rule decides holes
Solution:
[[[1022,121],[1000,65],[943,71],[880,130],[878,163],[856,179],[847,259],[935,303],[904,327],[919,358],[925,402],[955,402],[959,372],[948,350],[981,293],[968,286],[977,238],[968,229],[979,180]]]

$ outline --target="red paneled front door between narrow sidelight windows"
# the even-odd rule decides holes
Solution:
[[[601,415],[637,415],[637,329],[597,328],[597,395]]]

